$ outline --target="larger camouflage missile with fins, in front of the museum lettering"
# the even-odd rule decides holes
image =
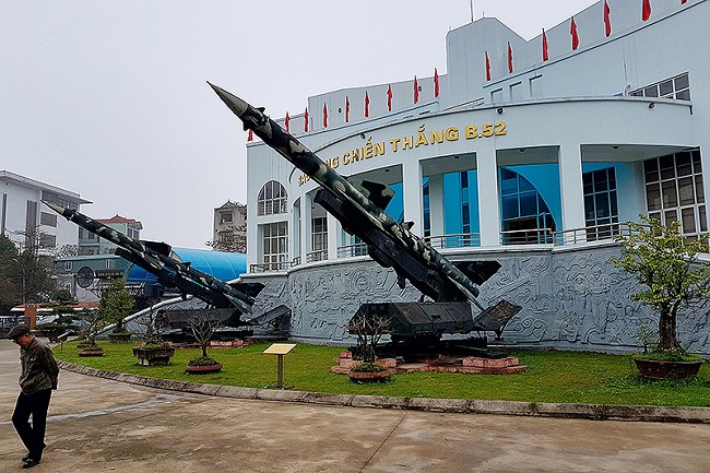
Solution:
[[[208,82],[227,107],[274,151],[321,187],[317,201],[341,221],[348,233],[355,233],[368,246],[370,257],[383,267],[392,267],[404,279],[436,301],[469,300],[478,303],[478,287],[500,268],[497,261],[451,262],[428,243],[410,232],[382,209],[391,198],[387,186],[374,182],[356,186],[334,172],[279,123],[236,95]],[[387,188],[387,189],[383,189]],[[372,200],[380,203],[378,206]],[[362,228],[367,228],[363,230]],[[358,228],[353,232],[353,228]],[[466,274],[468,273],[468,274]]]

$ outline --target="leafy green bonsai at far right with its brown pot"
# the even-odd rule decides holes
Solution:
[[[663,225],[644,215],[641,220],[644,224],[628,223],[629,235],[616,237],[622,255],[610,260],[644,286],[630,295],[631,300],[649,306],[659,316],[655,347],[646,348],[652,333],[644,330],[639,340],[646,353],[634,360],[647,378],[695,376],[702,360],[681,345],[677,315],[679,308],[710,294],[710,263],[698,262],[698,255],[708,251],[708,235],[687,238],[681,234],[678,222]]]

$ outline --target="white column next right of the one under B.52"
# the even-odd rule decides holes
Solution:
[[[584,228],[584,185],[582,182],[582,151],[579,143],[559,146],[559,193],[563,205],[560,229]]]

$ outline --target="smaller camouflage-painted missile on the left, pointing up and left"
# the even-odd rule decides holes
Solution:
[[[141,241],[106,226],[75,210],[66,209],[51,202],[45,205],[87,232],[116,244],[116,253],[157,276],[158,282],[167,287],[177,287],[180,292],[214,306],[234,307],[241,314],[250,314],[255,301],[250,294],[245,294],[224,281],[190,267],[171,256],[170,246],[164,243]],[[247,287],[248,292],[258,292],[261,287]]]

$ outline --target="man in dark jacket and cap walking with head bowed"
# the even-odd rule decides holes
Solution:
[[[23,469],[37,465],[45,449],[45,429],[47,427],[47,410],[51,390],[57,389],[59,367],[51,348],[45,342],[37,340],[29,327],[20,323],[8,334],[20,345],[20,395],[12,414],[12,424],[27,447],[27,454],[22,458]],[[32,415],[32,425],[29,416]]]

